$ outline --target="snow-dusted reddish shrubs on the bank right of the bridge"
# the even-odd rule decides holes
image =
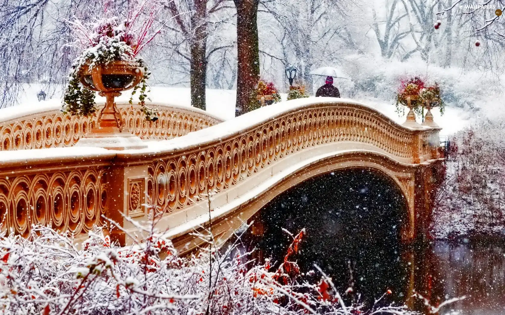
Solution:
[[[505,229],[505,123],[488,120],[450,139],[446,177],[436,195],[437,238]]]

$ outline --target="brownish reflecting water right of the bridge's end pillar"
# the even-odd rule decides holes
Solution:
[[[451,309],[461,314],[505,314],[505,245],[502,240],[435,242],[431,256],[437,298],[467,296]]]

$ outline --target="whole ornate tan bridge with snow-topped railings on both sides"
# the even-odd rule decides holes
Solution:
[[[146,204],[155,204],[166,211],[157,227],[185,252],[198,245],[190,233],[208,225],[209,215],[224,240],[293,185],[345,168],[373,170],[399,188],[408,209],[403,240],[429,224],[432,191],[443,172],[437,128],[405,127],[334,98],[282,102],[224,122],[167,105],[158,106],[157,122],[148,122],[135,107],[118,107],[123,125],[146,148],[74,146],[94,117],[55,108],[3,115],[3,229],[27,235],[32,223],[51,224],[84,238],[104,214],[128,231],[135,229],[131,220],[146,220]],[[113,236],[129,242],[118,229]]]

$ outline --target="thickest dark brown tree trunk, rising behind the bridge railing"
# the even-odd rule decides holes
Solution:
[[[259,0],[233,0],[237,8],[236,115],[250,110],[251,95],[260,78],[258,39]]]

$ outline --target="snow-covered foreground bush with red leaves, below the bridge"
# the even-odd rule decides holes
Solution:
[[[247,253],[234,246],[224,254],[202,248],[197,256],[179,258],[170,240],[148,235],[126,247],[111,244],[100,229],[80,247],[42,226],[34,226],[28,238],[0,238],[2,313],[349,314],[361,309],[346,306],[330,278],[309,284],[300,277],[289,258],[297,253],[303,232],[273,271],[268,261],[247,268]],[[393,305],[373,311],[415,313]]]

